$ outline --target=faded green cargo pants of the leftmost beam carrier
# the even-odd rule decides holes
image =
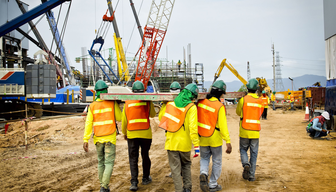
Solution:
[[[116,159],[116,145],[108,143],[96,143],[98,155],[98,178],[100,187],[109,187],[114,160]]]

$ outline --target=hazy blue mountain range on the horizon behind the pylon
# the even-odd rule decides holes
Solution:
[[[270,86],[273,90],[273,80],[266,79],[266,81],[268,86]],[[319,75],[302,75],[300,77],[293,77],[293,89],[297,90],[300,87],[307,87],[316,82],[321,82],[321,86],[326,86],[327,78]],[[283,78],[282,83],[284,84],[285,90],[292,89],[292,81],[290,79]],[[225,82],[225,84],[227,92],[238,91],[238,89],[243,85],[241,81]],[[212,81],[204,81],[204,88],[209,89],[211,85]]]

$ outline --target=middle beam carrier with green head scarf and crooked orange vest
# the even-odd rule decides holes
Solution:
[[[197,108],[192,102],[198,96],[198,87],[191,83],[171,102],[165,102],[159,114],[159,127],[166,130],[165,150],[176,192],[190,192],[191,148],[194,144],[195,155],[200,153],[197,134]],[[183,184],[181,179],[181,169]]]

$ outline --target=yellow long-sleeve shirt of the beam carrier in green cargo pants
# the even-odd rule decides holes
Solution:
[[[97,99],[94,102],[102,102],[102,101],[104,100]],[[114,102],[114,118],[116,121],[121,121],[121,118],[122,118],[121,109],[117,102]],[[87,110],[87,116],[86,116],[86,121],[85,121],[85,131],[84,131],[84,137],[83,137],[84,143],[89,142],[89,139],[92,133],[92,125],[93,125],[93,114],[89,107]],[[117,142],[116,134],[117,134],[117,130],[113,134],[108,135],[108,136],[101,136],[101,137],[93,136],[93,143],[96,144],[97,142],[99,143],[111,142],[116,145],[116,142]]]

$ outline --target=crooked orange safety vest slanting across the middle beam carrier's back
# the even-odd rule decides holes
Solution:
[[[173,101],[168,102],[166,104],[166,111],[162,115],[159,123],[159,127],[169,132],[178,131],[184,124],[185,115],[193,105],[195,104],[190,103],[185,107],[179,108],[176,107]]]

